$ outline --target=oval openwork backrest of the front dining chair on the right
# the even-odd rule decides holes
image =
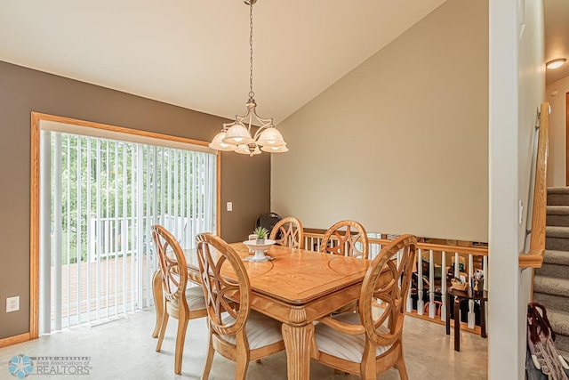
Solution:
[[[358,306],[365,334],[375,345],[389,346],[402,335],[416,251],[417,238],[402,235],[381,249],[365,273]],[[383,312],[373,310],[376,300],[381,301]],[[381,332],[382,325],[389,333]]]

